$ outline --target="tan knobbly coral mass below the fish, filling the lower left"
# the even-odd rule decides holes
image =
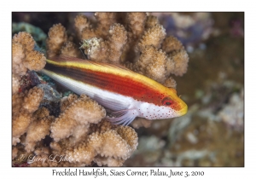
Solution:
[[[41,90],[37,87],[34,89]],[[49,116],[49,111],[44,107],[38,109],[38,98],[34,97],[32,102],[22,96],[18,95],[13,101],[14,110],[17,111],[19,105],[26,101],[29,105],[24,108],[30,113],[25,114],[30,118],[13,121],[14,145],[20,142],[19,147],[14,147],[13,156],[16,158],[22,151],[26,155],[33,151],[33,158],[37,161],[27,160],[31,166],[82,166],[93,162],[97,165],[120,166],[137,148],[137,133],[131,127],[116,126],[102,119],[106,115],[105,109],[86,95],[63,98],[59,118]],[[34,112],[34,109],[38,110]],[[20,125],[16,127],[17,124],[24,124],[22,131],[19,130]],[[41,139],[48,136],[49,131],[54,141],[50,142],[50,147],[44,147]],[[25,132],[26,136],[23,135],[21,139]],[[68,161],[62,159],[56,162],[61,160],[60,155],[68,156]],[[53,161],[51,156],[58,157]],[[44,163],[42,160],[45,160]]]

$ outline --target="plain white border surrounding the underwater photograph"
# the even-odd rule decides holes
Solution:
[[[19,178],[56,177],[53,168],[11,167],[11,12],[12,11],[245,11],[245,167],[235,168],[172,168],[172,170],[203,170],[201,178],[255,177],[255,5],[253,1],[3,1],[1,3],[1,176]],[[254,114],[254,115],[253,115]],[[64,170],[64,168],[56,168]],[[75,168],[72,168],[73,170]],[[81,168],[79,168],[81,169]],[[88,168],[91,170],[92,168]],[[110,168],[106,170],[129,170]],[[156,168],[154,168],[156,169]],[[161,168],[169,170],[169,168]],[[150,168],[132,168],[150,170]],[[82,176],[86,177],[86,176]],[[116,176],[115,176],[116,177]],[[119,177],[119,176],[118,176]],[[140,176],[141,178],[146,178]],[[5,177],[3,177],[5,178]],[[86,177],[95,178],[95,177]],[[98,177],[97,177],[98,178]],[[109,177],[111,178],[111,177]],[[117,177],[116,177],[117,178]],[[153,176],[147,177],[153,178]],[[154,177],[155,178],[155,177]],[[161,177],[164,178],[164,177]],[[182,178],[182,177],[180,177]]]

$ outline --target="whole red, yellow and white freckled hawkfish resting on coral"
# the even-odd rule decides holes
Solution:
[[[175,118],[188,111],[172,88],[133,72],[125,66],[59,55],[41,70],[78,95],[89,95],[111,113],[113,124],[128,125],[137,118]]]

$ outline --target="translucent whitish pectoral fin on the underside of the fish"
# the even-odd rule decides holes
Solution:
[[[113,112],[107,118],[113,124],[129,125],[138,114],[137,109],[126,109]]]

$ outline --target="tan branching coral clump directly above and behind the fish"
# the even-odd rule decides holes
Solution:
[[[76,18],[77,31],[82,34],[81,48],[91,61],[119,63],[161,84],[172,78],[171,74],[182,76],[187,71],[189,56],[183,45],[177,38],[166,37],[156,17],[145,13],[108,14],[111,20],[104,26],[108,33],[103,33],[99,26],[106,14],[97,14],[96,28],[85,16]],[[176,87],[174,79],[167,81]]]

